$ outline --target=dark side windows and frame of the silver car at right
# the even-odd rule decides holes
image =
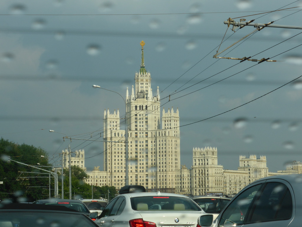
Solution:
[[[292,215],[292,190],[288,183],[263,181],[236,196],[219,215],[216,226],[288,226]]]

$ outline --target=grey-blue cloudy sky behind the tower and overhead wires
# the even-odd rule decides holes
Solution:
[[[125,106],[92,85],[125,97],[143,40],[153,94],[159,86],[161,108],[179,110],[182,165],[209,146],[224,169],[257,155],[284,170],[302,162],[302,30],[266,27],[239,41],[255,28],[224,21],[302,26],[300,10],[301,0],[2,0],[0,137],[43,148],[57,166],[69,145],[84,149],[87,170],[103,170],[104,110],[122,116]],[[275,62],[226,59],[244,57]]]

